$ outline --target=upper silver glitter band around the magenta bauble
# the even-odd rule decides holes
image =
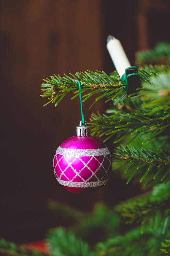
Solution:
[[[104,148],[95,148],[95,149],[74,149],[74,148],[64,148],[58,147],[56,150],[56,154],[63,155],[63,156],[106,156],[109,155],[110,152],[107,147]]]

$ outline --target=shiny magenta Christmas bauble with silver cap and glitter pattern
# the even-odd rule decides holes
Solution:
[[[76,136],[65,140],[54,155],[55,177],[73,193],[97,190],[106,184],[112,170],[108,148],[100,140],[87,136],[88,133],[88,126],[78,126]]]

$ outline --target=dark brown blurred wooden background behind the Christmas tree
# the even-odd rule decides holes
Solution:
[[[51,200],[89,211],[96,202],[114,205],[140,193],[116,174],[91,195],[71,194],[57,183],[53,155],[74,135],[80,103],[68,95],[57,108],[43,107],[40,84],[53,73],[113,71],[108,34],[121,41],[133,65],[136,51],[170,42],[169,15],[169,0],[0,0],[0,237],[43,239],[60,225],[47,210]],[[91,111],[106,109],[101,101],[88,111],[90,103],[84,104],[87,121]]]

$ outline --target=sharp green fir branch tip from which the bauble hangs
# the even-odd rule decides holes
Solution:
[[[55,106],[64,98],[67,93],[74,93],[72,97],[78,97],[80,93],[87,92],[83,96],[83,102],[91,96],[101,93],[98,98],[95,99],[96,103],[98,100],[107,97],[107,101],[113,100],[119,96],[120,100],[126,98],[126,87],[124,83],[120,81],[120,77],[107,75],[104,71],[87,71],[77,72],[75,75],[66,75],[63,77],[60,75],[53,75],[51,79],[44,79],[46,83],[41,85],[43,90],[42,97],[48,97],[48,103],[54,103]],[[81,83],[81,92],[79,90],[78,81]],[[47,105],[46,103],[45,105]]]

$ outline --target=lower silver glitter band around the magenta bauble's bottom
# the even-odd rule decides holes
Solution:
[[[57,179],[57,178],[56,178]],[[66,187],[100,187],[106,184],[107,180],[104,181],[92,181],[92,182],[74,182],[74,181],[63,181],[60,179],[57,179],[57,181],[62,185]]]

